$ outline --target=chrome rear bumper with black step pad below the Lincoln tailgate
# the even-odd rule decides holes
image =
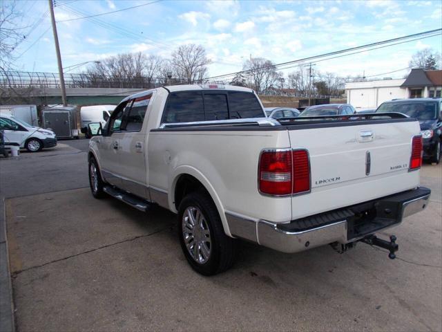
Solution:
[[[430,190],[421,187],[345,208],[346,211],[354,211],[354,216],[341,220],[336,218],[334,222],[328,222],[325,225],[296,231],[291,231],[290,225],[297,221],[281,224],[265,220],[252,221],[231,213],[227,213],[226,216],[233,236],[281,252],[293,253],[333,242],[349,243],[357,241],[379,230],[399,225],[403,218],[424,210],[429,198]],[[355,221],[358,213],[356,211],[361,211],[365,206],[376,207],[376,216],[372,216],[367,221],[358,217]],[[342,214],[333,215],[339,216]],[[329,219],[329,216],[327,217]]]

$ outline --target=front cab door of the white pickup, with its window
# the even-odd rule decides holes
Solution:
[[[122,186],[124,167],[120,163],[119,149],[124,136],[122,120],[124,111],[131,109],[132,100],[119,104],[111,120],[104,127],[103,136],[98,139],[99,162],[104,180],[117,187]]]

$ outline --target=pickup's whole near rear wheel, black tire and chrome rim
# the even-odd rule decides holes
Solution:
[[[178,233],[184,256],[202,275],[222,273],[236,258],[236,240],[224,233],[218,210],[204,192],[193,192],[182,200]]]

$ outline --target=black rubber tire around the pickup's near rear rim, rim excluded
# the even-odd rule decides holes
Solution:
[[[184,242],[184,230],[188,230],[184,226],[184,213],[187,213],[188,209],[191,208],[198,208],[200,210],[210,232],[210,255],[204,263],[200,263],[193,258],[190,253],[192,250],[188,249]],[[201,275],[216,275],[232,266],[238,252],[237,243],[235,239],[228,237],[224,233],[220,215],[209,194],[202,191],[192,192],[184,197],[178,210],[177,224],[182,251],[193,270]],[[189,243],[192,242],[189,241]]]

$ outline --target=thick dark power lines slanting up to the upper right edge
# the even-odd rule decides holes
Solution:
[[[372,44],[365,44],[365,45],[356,46],[356,47],[352,47],[352,48],[345,48],[343,50],[336,50],[334,52],[323,53],[321,55],[316,55],[316,56],[312,56],[312,57],[305,57],[305,58],[302,58],[302,59],[297,59],[297,60],[293,60],[293,61],[289,61],[289,62],[282,62],[280,64],[274,64],[274,65],[271,65],[271,66],[263,66],[263,67],[260,67],[260,68],[248,69],[246,71],[238,71],[236,73],[217,75],[217,76],[209,77],[208,79],[234,76],[234,75],[237,75],[239,73],[250,73],[250,72],[253,72],[253,71],[258,71],[258,70],[267,69],[267,68],[274,68],[274,67],[278,67],[278,66],[294,64],[294,63],[297,63],[297,62],[307,62],[309,60],[314,60],[314,59],[318,59],[318,58],[321,58],[321,57],[328,57],[330,55],[337,55],[337,54],[340,54],[340,53],[347,53],[347,52],[350,52],[352,50],[359,50],[361,48],[369,48],[371,46],[378,46],[378,45],[383,45],[383,44],[389,44],[389,43],[397,42],[397,41],[403,40],[403,39],[410,39],[412,37],[419,37],[419,36],[430,35],[430,34],[433,34],[433,33],[440,33],[441,31],[442,31],[442,28],[435,29],[435,30],[428,30],[428,31],[424,31],[423,33],[415,33],[413,35],[406,35],[406,36],[403,36],[403,37],[387,39],[387,40],[383,40],[381,42],[375,42],[375,43],[372,43]],[[434,37],[434,36],[435,35],[432,35],[430,37]],[[417,39],[414,39],[414,40],[417,40]],[[387,47],[387,46],[385,46],[385,47]],[[373,49],[376,49],[376,48],[373,48]],[[356,53],[352,53],[352,54],[356,54]],[[325,61],[325,60],[315,60],[315,61],[319,62],[319,61]],[[290,67],[287,67],[287,68],[290,68]]]

